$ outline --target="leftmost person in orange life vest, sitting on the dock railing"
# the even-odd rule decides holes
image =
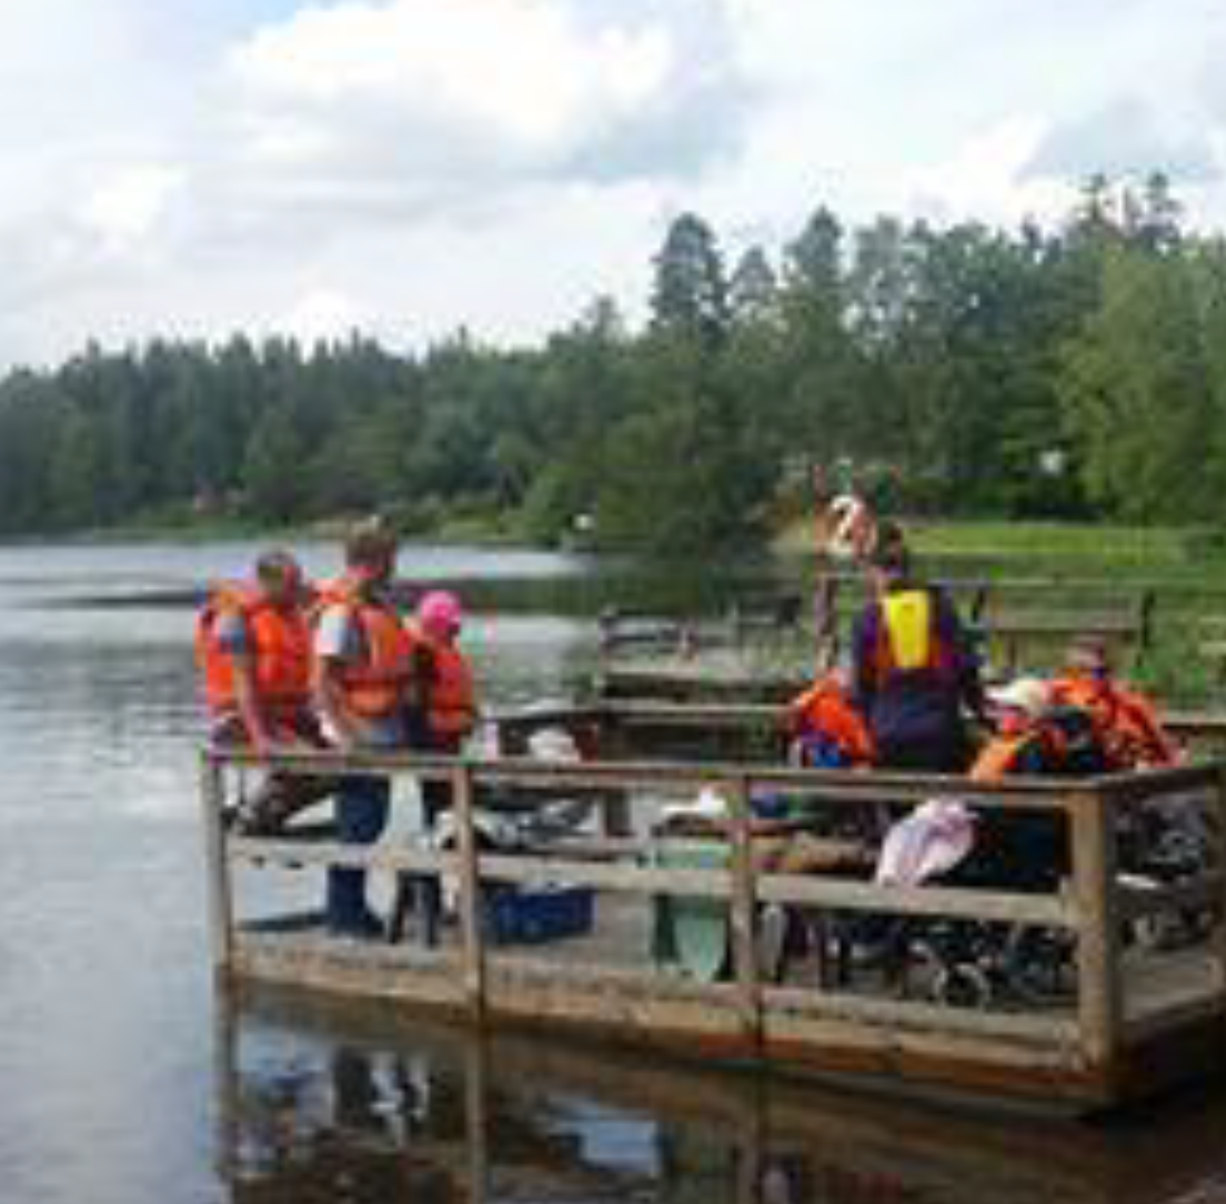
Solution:
[[[259,558],[253,582],[212,591],[196,624],[196,657],[216,744],[260,756],[327,747],[311,707],[308,596],[298,562],[281,549]],[[232,819],[248,835],[276,831],[335,785],[275,770]]]

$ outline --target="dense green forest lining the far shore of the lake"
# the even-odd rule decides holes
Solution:
[[[630,329],[87,347],[0,380],[0,536],[380,511],[657,554],[760,546],[810,468],[896,511],[1226,522],[1226,242],[1167,180],[1096,178],[1052,228],[817,207],[726,259],[698,213]]]

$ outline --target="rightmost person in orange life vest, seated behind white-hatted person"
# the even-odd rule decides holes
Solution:
[[[1154,704],[1116,679],[1103,642],[1094,636],[1073,641],[1064,672],[1052,682],[1052,699],[1090,714],[1107,770],[1176,765],[1182,759]]]

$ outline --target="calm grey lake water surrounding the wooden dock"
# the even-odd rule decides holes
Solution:
[[[1226,1198],[1222,1092],[1036,1128],[370,1009],[223,1005],[185,600],[254,551],[0,549],[5,1204]],[[538,553],[408,548],[402,569],[462,582],[494,701],[566,696],[592,615],[641,586]]]

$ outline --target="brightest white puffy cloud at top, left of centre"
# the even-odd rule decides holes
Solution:
[[[386,107],[409,129],[472,123],[549,150],[649,102],[671,53],[660,28],[584,38],[552,0],[398,0],[309,9],[238,48],[232,69],[256,104]]]

